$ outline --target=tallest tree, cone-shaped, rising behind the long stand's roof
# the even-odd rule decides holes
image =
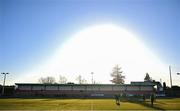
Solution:
[[[122,73],[123,71],[121,71],[121,67],[116,65],[111,73],[111,77],[113,78],[111,82],[115,84],[124,84],[125,76],[123,76]]]

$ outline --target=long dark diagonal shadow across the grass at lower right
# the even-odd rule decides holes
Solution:
[[[128,100],[128,101],[131,103],[143,105],[145,107],[153,108],[155,110],[165,110],[163,108],[157,107],[155,104],[153,106],[151,106],[151,104],[149,104],[147,102],[143,102],[143,101],[137,101],[137,100]]]

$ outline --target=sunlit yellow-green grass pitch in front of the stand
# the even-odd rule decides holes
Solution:
[[[150,101],[123,101],[120,106],[114,99],[0,99],[0,110],[180,110],[180,98]]]

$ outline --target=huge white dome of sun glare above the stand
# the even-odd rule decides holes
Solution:
[[[135,34],[105,24],[73,35],[45,65],[34,71],[34,77],[50,75],[58,79],[59,75],[65,75],[74,81],[77,75],[82,75],[90,83],[90,73],[94,72],[96,82],[110,83],[110,73],[116,64],[122,67],[126,83],[142,81],[146,72],[157,79],[165,73],[159,59]]]

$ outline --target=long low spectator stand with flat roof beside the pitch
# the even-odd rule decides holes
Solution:
[[[16,83],[19,97],[74,97],[74,98],[114,98],[116,94],[142,95],[154,92],[154,84],[132,82],[131,84],[33,84]]]

